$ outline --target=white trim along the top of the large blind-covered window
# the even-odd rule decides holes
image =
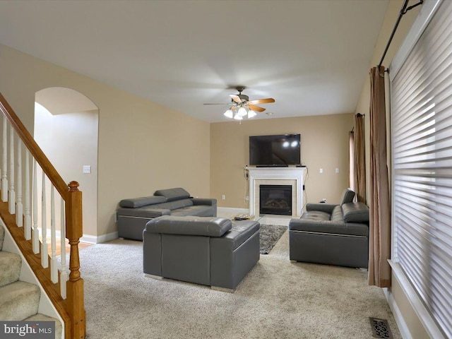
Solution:
[[[400,71],[408,54],[410,54],[417,40],[419,40],[429,24],[441,1],[442,0],[424,0],[424,4],[421,6],[420,12],[417,15],[415,22],[412,24],[410,32],[408,32],[405,40],[403,40],[400,45],[396,57],[391,61],[391,65],[389,66],[389,78],[391,81],[393,81],[393,78],[396,78],[398,71]]]

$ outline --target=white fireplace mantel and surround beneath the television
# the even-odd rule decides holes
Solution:
[[[246,167],[249,171],[249,214],[259,214],[260,185],[292,186],[292,216],[302,215],[306,167]]]

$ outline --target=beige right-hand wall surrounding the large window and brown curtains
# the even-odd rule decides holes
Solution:
[[[393,26],[396,23],[398,18],[398,14],[400,13],[400,8],[403,6],[403,0],[391,0],[388,5],[388,9],[386,11],[386,16],[383,21],[383,25],[379,34],[379,39],[376,43],[374,49],[374,55],[371,59],[371,64],[369,65],[369,69],[371,67],[377,66],[380,62],[381,56],[383,55],[383,50],[386,47],[386,42],[388,42],[389,36],[393,30]],[[403,16],[400,24],[398,26],[398,30],[394,35],[393,42],[391,43],[391,47],[388,49],[386,57],[383,61],[383,66],[386,68],[391,64],[393,57],[398,52],[400,44],[402,44],[405,36],[410,30],[412,23],[414,22],[417,13],[420,11],[420,6],[409,11],[405,16]],[[386,76],[386,78],[388,78]],[[388,90],[388,87],[386,87]],[[388,93],[386,93],[388,94]],[[362,87],[362,93],[357,103],[357,107],[355,112],[359,112],[362,114],[366,114],[365,118],[365,133],[366,133],[366,171],[367,171],[367,201],[369,201],[369,192],[370,192],[370,142],[369,142],[369,131],[370,131],[370,121],[369,121],[369,102],[370,102],[370,81],[369,77],[367,77],[364,81],[364,85]],[[387,139],[388,139],[388,167],[389,174],[391,176],[391,129],[390,129],[390,112],[388,102],[386,103],[386,115],[387,115]],[[400,287],[398,280],[395,275],[392,276],[392,287],[389,289],[391,297],[393,298],[396,307],[400,311],[400,314],[403,317],[403,321],[405,322],[406,328],[410,331],[410,335],[413,339],[423,339],[429,338],[424,326],[420,322],[420,319],[417,317],[415,311],[412,309],[410,302],[408,301],[408,297],[403,292],[403,289]]]

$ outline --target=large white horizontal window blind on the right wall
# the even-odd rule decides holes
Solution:
[[[452,1],[391,81],[393,261],[452,338]]]

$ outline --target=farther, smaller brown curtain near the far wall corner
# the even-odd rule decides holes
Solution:
[[[355,193],[357,201],[366,203],[366,160],[364,115],[355,115]]]

